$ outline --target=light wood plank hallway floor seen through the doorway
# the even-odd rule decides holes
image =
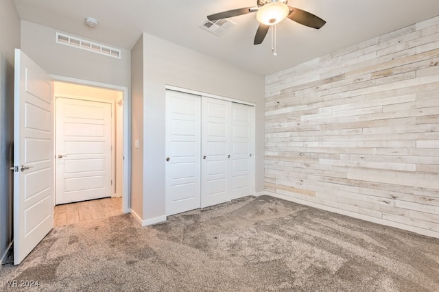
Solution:
[[[55,206],[55,227],[122,214],[122,198],[108,197]]]

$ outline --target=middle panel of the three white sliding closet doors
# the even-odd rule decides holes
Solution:
[[[230,101],[202,97],[202,208],[231,200],[231,108]]]

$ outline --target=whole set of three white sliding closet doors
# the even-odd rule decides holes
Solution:
[[[254,107],[167,90],[166,215],[254,191]]]

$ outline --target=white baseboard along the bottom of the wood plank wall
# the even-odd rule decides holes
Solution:
[[[305,201],[304,199],[297,199],[295,197],[288,197],[286,195],[279,195],[279,194],[272,193],[272,192],[265,192],[265,195],[269,195],[271,197],[277,197],[279,199],[285,199],[285,201],[294,202],[294,203],[297,203],[297,204],[301,204],[301,205],[305,205],[305,206],[310,206],[310,207],[313,207],[313,208],[318,208],[318,209],[326,210],[326,211],[329,211],[329,212],[334,212],[334,213],[337,213],[337,214],[340,214],[340,215],[346,215],[348,217],[353,217],[353,218],[361,219],[361,220],[364,220],[364,221],[369,221],[369,222],[372,222],[372,223],[381,224],[381,225],[384,225],[384,226],[390,226],[390,227],[399,228],[399,229],[402,229],[402,230],[407,230],[407,231],[411,231],[411,232],[414,232],[414,233],[418,233],[418,234],[421,234],[421,235],[426,235],[426,236],[431,236],[431,237],[439,238],[439,232],[436,232],[436,231],[425,230],[423,228],[417,228],[417,227],[414,227],[414,226],[408,226],[408,225],[405,225],[403,223],[397,223],[397,222],[388,221],[388,220],[385,220],[385,219],[380,219],[380,218],[377,218],[377,217],[372,217],[372,216],[368,216],[368,215],[358,214],[358,213],[355,213],[355,212],[351,212],[351,211],[347,211],[347,210],[342,210],[342,209],[334,208],[334,207],[331,207],[331,206],[320,205],[320,204],[316,204],[316,203],[313,203],[313,202]]]

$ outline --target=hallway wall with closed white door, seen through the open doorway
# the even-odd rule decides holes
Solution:
[[[56,81],[54,96],[56,205],[123,197],[123,91]]]

